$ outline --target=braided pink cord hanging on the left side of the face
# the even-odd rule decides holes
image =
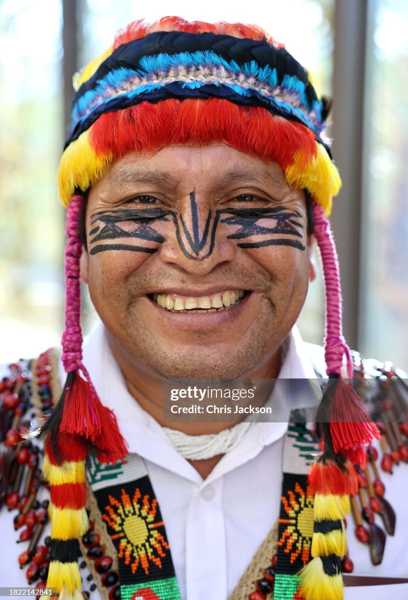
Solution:
[[[75,194],[67,208],[65,232],[65,331],[62,334],[62,364],[65,371],[83,370],[81,288],[79,280],[79,259],[82,243],[79,238],[78,218],[82,209],[83,197]]]

